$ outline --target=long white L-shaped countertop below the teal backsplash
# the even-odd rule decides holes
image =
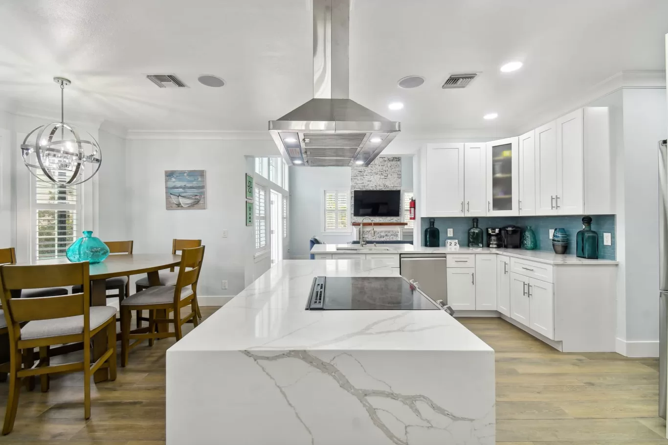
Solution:
[[[538,263],[546,263],[551,265],[615,265],[619,264],[617,261],[605,259],[584,259],[578,258],[575,255],[557,255],[548,251],[525,251],[523,249],[489,249],[473,248],[473,247],[459,247],[457,250],[448,249],[448,247],[422,247],[413,246],[410,244],[379,244],[377,247],[387,247],[390,250],[343,250],[337,251],[337,247],[354,247],[355,245],[347,244],[317,244],[311,249],[311,253],[332,253],[351,255],[359,253],[361,255],[387,255],[392,253],[421,253],[421,254],[494,254],[506,255],[507,257],[527,259],[536,261]],[[369,245],[371,246],[371,245]]]

